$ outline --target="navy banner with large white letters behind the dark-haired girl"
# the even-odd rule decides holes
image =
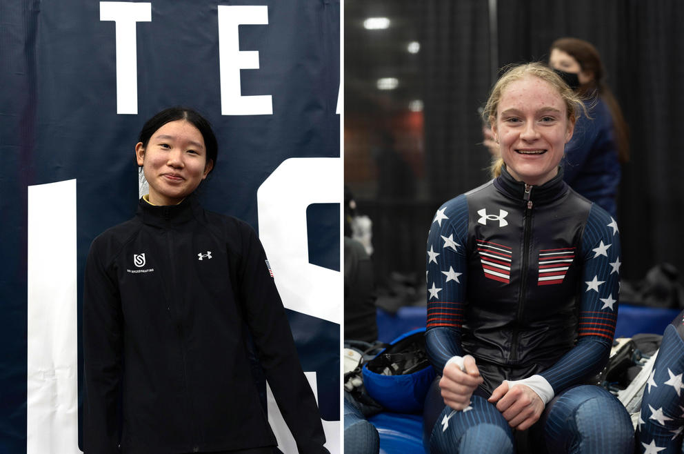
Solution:
[[[259,233],[339,453],[339,49],[339,0],[0,0],[0,452],[79,453],[88,248],[134,215],[141,126],[180,105],[212,122],[201,202]]]

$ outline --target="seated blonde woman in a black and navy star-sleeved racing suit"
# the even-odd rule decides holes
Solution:
[[[425,402],[432,453],[633,451],[625,407],[587,384],[610,355],[621,251],[616,222],[559,166],[583,108],[543,63],[507,70],[483,111],[499,177],[432,221],[425,342],[441,375]]]

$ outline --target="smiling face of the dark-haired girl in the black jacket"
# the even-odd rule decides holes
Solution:
[[[150,185],[150,203],[174,205],[192,194],[212,170],[201,132],[185,120],[169,121],[135,146]]]

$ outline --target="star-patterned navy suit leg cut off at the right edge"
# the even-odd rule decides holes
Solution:
[[[663,343],[641,399],[636,452],[681,454],[684,429],[684,310],[663,333]]]

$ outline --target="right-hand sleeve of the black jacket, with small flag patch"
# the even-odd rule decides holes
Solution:
[[[252,228],[245,226],[242,237],[239,292],[259,362],[299,453],[328,453],[316,399],[299,363],[263,246]]]

